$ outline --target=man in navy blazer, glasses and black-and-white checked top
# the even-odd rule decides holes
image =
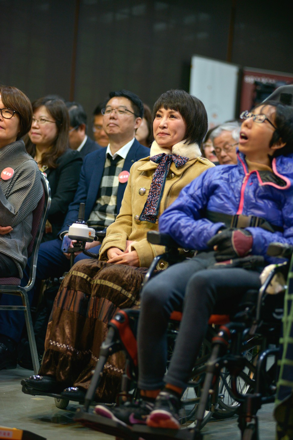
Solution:
[[[134,138],[136,129],[141,124],[143,117],[143,103],[132,92],[121,90],[111,92],[109,100],[104,109],[103,125],[105,132],[109,136],[108,147],[101,148],[90,154],[87,154],[83,161],[80,172],[80,180],[76,190],[73,202],[69,205],[64,225],[60,231],[60,237],[41,244],[38,254],[36,267],[35,287],[29,292],[32,298],[34,291],[40,288],[40,282],[49,277],[59,278],[65,271],[69,270],[69,255],[61,251],[61,238],[68,231],[68,227],[78,218],[80,203],[85,203],[85,220],[91,216],[98,218],[99,229],[109,226],[109,221],[114,221],[119,213],[123,193],[127,185],[127,176],[131,165],[141,159],[149,156],[149,148],[142,146]],[[73,127],[72,127],[73,128]],[[117,163],[117,165],[116,165]],[[110,166],[109,166],[110,164]],[[107,180],[109,169],[115,171],[115,167],[120,167],[122,171],[117,172],[113,180]],[[105,172],[105,170],[108,170]],[[110,177],[112,177],[110,175]],[[113,181],[112,187],[109,182]],[[101,183],[103,182],[103,183]],[[106,198],[101,197],[102,189],[105,190],[105,182],[108,182],[107,190],[111,193],[110,200],[113,202],[116,198],[116,204],[107,205],[109,210],[101,209],[99,217],[99,207],[101,201]],[[115,188],[115,191],[113,190]],[[116,196],[115,196],[116,194]],[[103,194],[102,194],[103,195]],[[106,202],[107,203],[107,202]],[[106,213],[106,215],[105,215]],[[105,224],[102,224],[105,215]],[[107,224],[108,222],[108,224]],[[91,252],[98,253],[100,246],[91,248]],[[78,257],[85,257],[80,254]],[[28,280],[29,263],[24,271],[22,285],[25,286]],[[18,304],[19,298],[12,295],[5,298],[5,304]],[[17,350],[16,346],[21,336],[24,325],[23,312],[1,311],[0,314],[0,370],[3,368],[16,368]]]

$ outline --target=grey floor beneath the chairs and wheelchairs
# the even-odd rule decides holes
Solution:
[[[51,397],[29,396],[22,393],[20,381],[33,374],[18,367],[0,371],[0,425],[26,429],[47,440],[113,440],[114,437],[85,428],[73,421],[78,404],[72,402],[66,410],[58,409]],[[260,440],[275,439],[273,404],[258,412]],[[207,423],[204,440],[240,440],[237,416]]]

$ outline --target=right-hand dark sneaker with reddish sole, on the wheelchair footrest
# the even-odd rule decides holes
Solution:
[[[161,391],[155,406],[147,418],[147,425],[153,428],[179,429],[180,399],[170,392]]]

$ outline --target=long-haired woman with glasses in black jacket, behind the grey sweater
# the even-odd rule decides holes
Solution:
[[[80,178],[82,158],[69,148],[69,114],[58,98],[33,102],[33,123],[26,150],[45,173],[51,188],[51,207],[43,241],[57,238]]]

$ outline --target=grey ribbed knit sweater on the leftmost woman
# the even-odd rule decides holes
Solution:
[[[0,173],[12,168],[9,180],[0,180],[0,226],[12,226],[9,234],[0,235],[0,252],[14,260],[22,278],[31,241],[33,210],[43,194],[40,171],[26,152],[22,140],[0,148]]]

